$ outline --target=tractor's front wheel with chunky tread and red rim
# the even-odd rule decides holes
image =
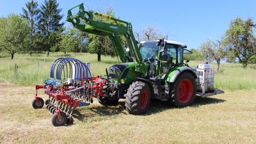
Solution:
[[[125,107],[127,111],[134,115],[146,113],[151,99],[150,87],[147,83],[135,81],[125,94]]]

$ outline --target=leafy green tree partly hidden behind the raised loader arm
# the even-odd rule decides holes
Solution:
[[[113,11],[113,8],[110,8],[107,15],[111,17],[115,17],[115,12]],[[118,24],[118,22],[113,22],[113,20],[105,19],[102,17],[95,17],[95,20],[99,20],[100,22],[106,22],[106,23],[115,23]],[[120,36],[120,39],[122,40],[122,43],[124,44],[124,37]],[[98,36],[98,35],[88,35],[88,52],[90,53],[96,53],[97,54],[97,60],[101,60],[101,55],[110,55],[115,56],[115,52],[113,51],[112,42],[108,36]]]

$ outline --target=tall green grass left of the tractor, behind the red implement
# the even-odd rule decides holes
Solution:
[[[15,83],[22,85],[42,84],[48,79],[52,62],[64,57],[63,53],[46,54],[15,54],[14,60],[9,57],[0,58],[0,83]],[[117,63],[116,58],[102,56],[102,62],[97,61],[96,54],[70,54],[84,62],[91,63],[91,72],[94,76],[105,75],[105,69]],[[14,75],[15,64],[18,65],[18,74]]]

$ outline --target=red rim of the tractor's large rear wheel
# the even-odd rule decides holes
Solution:
[[[193,84],[189,79],[183,79],[178,88],[178,98],[180,102],[188,102],[193,95]]]

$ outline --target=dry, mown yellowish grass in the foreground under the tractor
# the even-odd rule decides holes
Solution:
[[[186,108],[154,101],[140,116],[129,115],[124,100],[95,100],[77,109],[74,125],[53,127],[45,106],[32,108],[32,86],[0,87],[0,143],[256,143],[256,90],[227,90]]]

